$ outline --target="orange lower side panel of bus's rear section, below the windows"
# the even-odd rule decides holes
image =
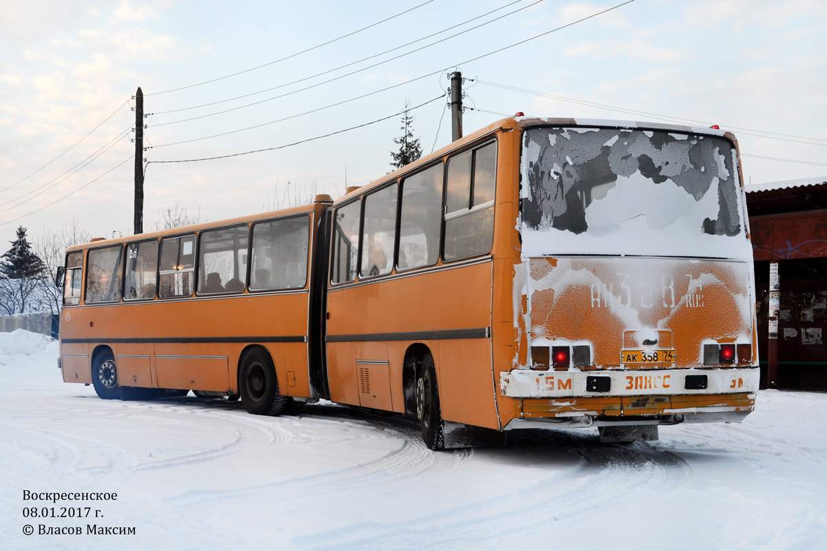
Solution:
[[[443,418],[498,426],[490,339],[480,336],[480,331],[485,335],[491,325],[490,261],[331,289],[327,311],[328,338],[350,340],[327,342],[333,401],[361,403],[359,373],[363,379],[365,374],[370,378],[378,368],[367,366],[378,364],[367,362],[386,362],[390,397],[394,397],[387,401],[393,411],[404,411],[401,363],[409,345],[420,343],[428,346],[434,358]],[[451,339],[450,333],[439,335],[456,330],[476,330],[477,334],[467,339]],[[421,339],[418,333],[423,334]],[[388,355],[387,342],[393,343],[393,358]],[[383,346],[384,355],[380,354]],[[440,359],[442,355],[447,360]]]

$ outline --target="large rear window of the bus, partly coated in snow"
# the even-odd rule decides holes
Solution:
[[[724,137],[531,128],[521,173],[530,254],[553,242],[559,252],[719,256],[746,242],[736,152]]]

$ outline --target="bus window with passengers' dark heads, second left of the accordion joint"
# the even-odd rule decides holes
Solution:
[[[247,280],[246,226],[202,231],[198,243],[198,294],[242,292]]]

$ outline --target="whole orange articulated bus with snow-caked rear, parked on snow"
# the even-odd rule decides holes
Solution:
[[[717,129],[516,117],[335,202],[79,245],[64,380],[415,414],[431,449],[739,421],[758,390],[740,175]]]

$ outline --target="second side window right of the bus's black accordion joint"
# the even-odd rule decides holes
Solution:
[[[385,275],[394,267],[397,188],[399,184],[394,183],[365,197],[359,270],[362,278]]]

